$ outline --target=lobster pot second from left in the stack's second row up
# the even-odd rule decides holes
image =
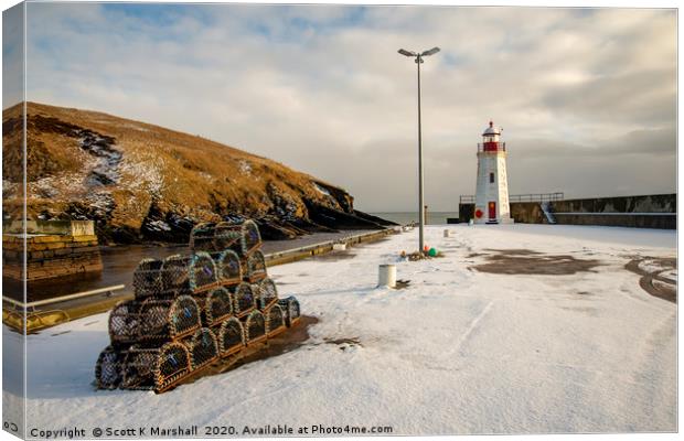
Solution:
[[[148,299],[140,308],[140,341],[168,341],[201,326],[200,308],[190,295],[173,300]]]

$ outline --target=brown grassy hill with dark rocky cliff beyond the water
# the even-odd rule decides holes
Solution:
[[[26,104],[29,218],[95,219],[100,239],[184,241],[199,222],[255,218],[267,238],[385,224],[344,190],[201,137],[97,111]],[[3,218],[22,198],[22,108],[6,109]]]

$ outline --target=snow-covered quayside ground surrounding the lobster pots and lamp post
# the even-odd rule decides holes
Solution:
[[[354,248],[353,258],[269,269],[280,294],[297,295],[303,314],[320,320],[311,338],[167,394],[94,389],[107,314],[30,336],[28,426],[88,433],[278,423],[391,426],[394,434],[676,430],[676,304],[649,295],[624,269],[635,256],[674,257],[675,232],[459,225],[445,238],[445,228],[426,230],[443,258],[398,261],[416,247],[416,229]],[[567,276],[469,269],[490,249],[601,265]],[[375,288],[386,262],[397,262],[408,288]],[[15,344],[6,333],[6,351]]]

